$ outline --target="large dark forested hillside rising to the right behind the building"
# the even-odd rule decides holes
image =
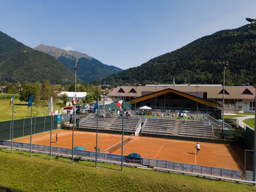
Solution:
[[[105,78],[119,84],[223,84],[220,61],[229,61],[226,85],[255,84],[256,31],[247,25],[204,36],[173,52]],[[97,84],[97,81],[93,81]],[[113,82],[112,82],[113,83]]]

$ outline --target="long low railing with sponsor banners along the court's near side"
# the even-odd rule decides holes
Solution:
[[[11,147],[11,141],[0,140],[0,145]],[[13,142],[14,148],[21,148],[29,150],[28,143],[20,143],[20,142]],[[40,151],[42,153],[49,153],[50,146],[45,145],[36,145],[31,144],[31,149]],[[52,153],[61,154],[61,156],[70,157],[72,155],[71,148],[60,148],[60,147],[52,147]],[[109,153],[97,153],[98,159],[111,161],[112,163],[121,162],[122,156],[116,154],[109,154]],[[94,151],[84,151],[74,149],[74,155],[85,158],[96,158],[96,152]],[[140,158],[140,157],[130,157],[130,156],[123,156],[123,162],[128,164],[135,164],[135,165],[144,165],[149,167],[161,167],[170,170],[179,170],[188,173],[201,173],[201,174],[209,174],[220,176],[220,177],[228,177],[234,179],[244,179],[243,171],[232,170],[232,169],[222,169],[217,167],[210,167],[204,165],[196,165],[196,164],[186,164],[186,163],[179,163],[174,161],[164,161],[158,159],[148,159],[148,158]]]

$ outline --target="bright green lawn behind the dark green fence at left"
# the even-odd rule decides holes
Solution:
[[[0,108],[0,121],[6,121],[6,120],[12,120],[12,105],[10,105],[9,99],[2,99],[1,102],[1,108]],[[48,116],[48,102],[42,103],[43,111],[46,109],[46,113],[43,113],[44,116]],[[16,113],[13,115],[13,119],[21,119],[21,118],[27,118],[31,117],[31,107],[28,108],[28,102],[20,101],[18,99],[14,100],[14,109],[16,110]],[[41,106],[40,106],[41,109]],[[53,110],[60,110],[61,108],[59,106],[53,106]],[[33,113],[36,112],[36,113]],[[41,109],[42,112],[42,109]],[[35,106],[33,103],[32,108],[32,117],[34,116],[41,116],[39,107]]]

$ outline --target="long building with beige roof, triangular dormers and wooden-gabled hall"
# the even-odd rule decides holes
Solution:
[[[145,97],[147,95],[148,97]],[[149,95],[151,95],[151,97]],[[198,107],[216,107],[215,103],[218,103],[218,108],[222,109],[223,86],[221,84],[159,84],[145,86],[118,86],[112,92],[110,92],[108,96],[113,97],[113,103],[117,103],[119,100],[124,98],[124,101],[130,101],[132,104],[136,102],[137,107],[146,105],[153,108],[156,106],[156,108],[161,109],[165,107],[168,109],[194,108],[195,110],[197,105]],[[254,97],[255,88],[252,86],[225,86],[225,112],[253,113],[255,111]],[[139,98],[140,100],[138,100]],[[199,98],[212,101],[212,103],[208,102],[205,104],[203,100],[200,100],[199,102]],[[198,101],[197,105],[196,101]]]

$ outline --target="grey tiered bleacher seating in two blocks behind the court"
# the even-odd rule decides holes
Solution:
[[[144,118],[146,119],[146,118]],[[109,131],[122,131],[122,117],[99,117],[98,129]],[[136,125],[140,120],[139,116],[124,118],[124,131],[135,132]],[[97,117],[90,117],[82,129],[97,129]],[[212,139],[212,126],[204,124],[204,120],[176,119],[147,117],[147,122],[143,126],[141,133],[152,135],[167,135],[175,137],[193,137]]]

